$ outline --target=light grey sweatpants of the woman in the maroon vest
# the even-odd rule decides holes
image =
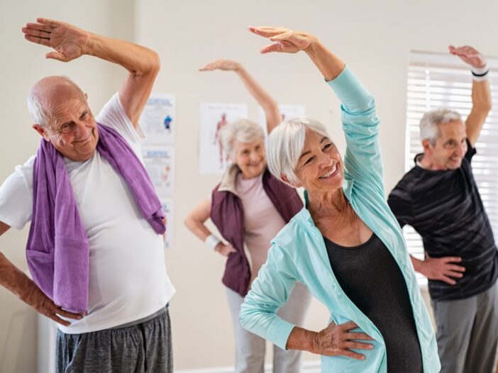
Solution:
[[[231,289],[226,289],[228,306],[232,314],[233,333],[236,344],[235,373],[263,373],[265,371],[266,341],[245,330],[238,321],[238,313],[244,299]],[[287,303],[278,310],[277,315],[289,323],[302,326],[311,296],[303,284],[297,282]],[[301,352],[284,351],[273,346],[273,373],[298,373],[301,368]]]

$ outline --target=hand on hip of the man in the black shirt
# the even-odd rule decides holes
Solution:
[[[461,257],[429,257],[421,262],[419,272],[424,274],[428,279],[439,280],[446,284],[455,285],[456,279],[463,277],[465,267],[455,265],[462,261]]]

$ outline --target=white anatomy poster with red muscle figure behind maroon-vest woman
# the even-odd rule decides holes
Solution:
[[[228,123],[248,117],[245,104],[208,104],[199,108],[199,174],[223,174],[230,164],[220,143]]]

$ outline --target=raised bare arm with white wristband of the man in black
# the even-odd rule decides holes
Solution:
[[[484,125],[487,114],[491,110],[491,89],[487,79],[487,64],[485,57],[474,48],[464,45],[455,48],[449,47],[452,55],[457,55],[463,62],[470,65],[474,79],[472,80],[472,109],[465,121],[467,139],[475,146]]]

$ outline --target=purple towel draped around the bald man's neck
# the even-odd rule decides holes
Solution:
[[[142,162],[116,130],[101,124],[98,130],[96,150],[128,184],[150,226],[157,234],[165,233],[165,214]],[[76,313],[87,311],[87,233],[64,159],[43,139],[33,171],[33,218],[26,257],[33,281],[55,304]]]

